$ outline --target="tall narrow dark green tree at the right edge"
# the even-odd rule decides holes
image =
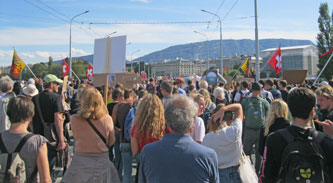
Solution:
[[[318,46],[318,54],[320,56],[321,54],[326,53],[331,48],[333,48],[333,23],[332,23],[333,17],[331,17],[329,14],[327,3],[320,4],[319,14],[320,15],[318,18],[318,23],[319,23],[320,32],[317,35],[317,46]],[[318,73],[323,69],[329,56],[330,54],[323,57],[319,57]],[[331,79],[332,75],[333,75],[333,62],[331,61],[327,65],[321,77],[324,77],[326,79]]]

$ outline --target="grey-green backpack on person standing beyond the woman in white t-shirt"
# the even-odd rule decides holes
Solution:
[[[264,125],[266,113],[265,101],[260,97],[245,98],[242,107],[245,114],[245,126],[248,128],[261,128]]]

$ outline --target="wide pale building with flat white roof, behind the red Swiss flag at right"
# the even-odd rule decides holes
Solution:
[[[261,51],[266,64],[276,52],[276,48]],[[318,72],[318,49],[313,45],[281,47],[282,72],[285,70],[307,70],[308,76]],[[266,73],[275,72],[268,64],[263,68]]]

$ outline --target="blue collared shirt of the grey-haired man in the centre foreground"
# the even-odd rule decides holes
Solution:
[[[187,134],[165,134],[141,152],[139,182],[219,182],[214,150]]]

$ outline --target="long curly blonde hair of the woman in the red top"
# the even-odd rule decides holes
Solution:
[[[147,94],[135,113],[136,137],[162,138],[165,129],[164,108],[161,100]]]

